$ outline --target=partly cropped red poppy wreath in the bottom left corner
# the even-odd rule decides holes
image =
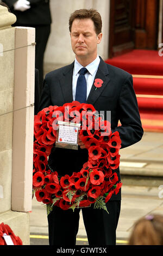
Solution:
[[[7,245],[5,242],[4,236],[10,236],[14,245],[22,245],[22,240],[20,237],[16,236],[14,232],[11,230],[9,225],[4,224],[3,222],[0,224],[0,245]]]

